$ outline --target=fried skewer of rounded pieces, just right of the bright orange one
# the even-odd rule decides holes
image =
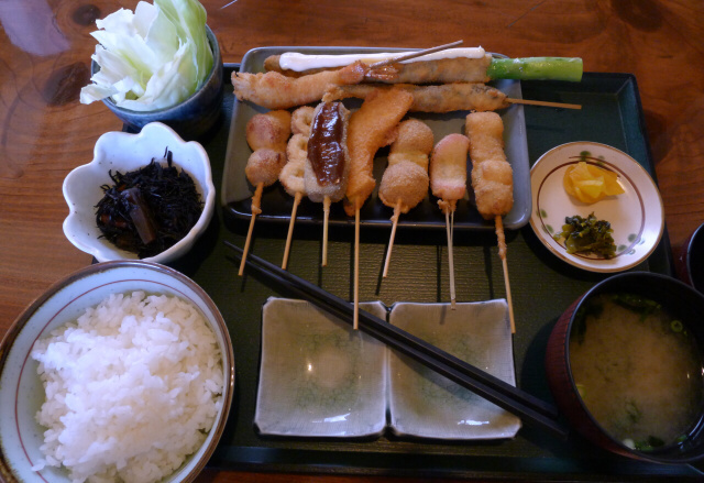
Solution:
[[[392,143],[388,154],[388,166],[378,187],[382,202],[394,208],[383,277],[388,275],[399,215],[410,211],[428,194],[428,163],[432,145],[432,130],[425,122],[408,119],[398,125],[396,141]]]

